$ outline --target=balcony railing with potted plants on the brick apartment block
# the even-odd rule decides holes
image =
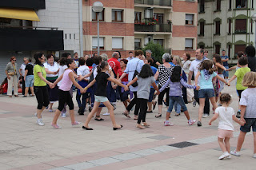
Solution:
[[[155,25],[134,25],[135,32],[167,32],[171,33],[171,24],[155,24]]]

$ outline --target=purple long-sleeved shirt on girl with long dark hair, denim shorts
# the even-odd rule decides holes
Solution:
[[[181,81],[178,82],[172,82],[170,81],[170,78],[168,81],[166,81],[166,84],[162,86],[162,88],[159,90],[162,92],[166,87],[170,85],[170,91],[169,91],[169,96],[170,97],[182,97],[182,85],[186,88],[189,89],[196,89],[195,85],[189,85],[184,81],[184,79],[181,77]]]

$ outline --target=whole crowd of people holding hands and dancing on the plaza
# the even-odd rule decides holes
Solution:
[[[104,121],[100,117],[102,107],[108,109],[113,130],[122,128],[122,125],[118,125],[114,119],[117,100],[123,102],[125,108],[122,114],[125,117],[130,118],[130,112],[134,109],[136,127],[141,129],[150,127],[146,122],[146,113],[152,113],[157,104],[158,114],[155,117],[162,117],[163,103],[168,106],[165,126],[174,125],[170,122],[170,113],[173,108],[175,116],[184,112],[188,125],[194,125],[197,122],[198,126],[202,126],[202,117],[210,115],[211,102],[214,117],[210,119],[209,125],[217,118],[219,119],[218,143],[223,151],[219,159],[230,157],[230,153],[240,156],[243,140],[246,132],[250,132],[250,128],[254,132],[254,157],[256,157],[255,49],[253,46],[247,46],[246,53],[238,52],[238,63],[231,68],[228,68],[229,59],[225,53],[223,50],[222,56],[215,54],[210,60],[207,49],[197,49],[194,61],[190,61],[189,53],[183,54],[183,61],[178,56],[164,53],[162,64],[152,57],[150,49],[146,50],[146,56],[142,50],[136,50],[135,53],[130,52],[126,59],[120,58],[118,52],[114,52],[110,59],[106,53],[102,53],[101,56],[86,56],[79,59],[71,58],[70,53],[63,53],[58,63],[54,61],[53,55],[47,55],[46,61],[43,53],[36,53],[33,69],[34,92],[33,88],[30,90],[32,95],[35,93],[38,101],[36,113],[38,125],[44,125],[42,122],[44,109],[49,107],[49,111],[53,112],[54,101],[58,101],[58,109],[52,121],[54,128],[61,128],[57,121],[60,114],[66,117],[66,105],[70,109],[71,125],[80,124],[74,118],[72,101],[74,87],[78,89],[76,96],[78,113],[83,115],[86,106],[90,111],[82,125],[82,128],[86,130],[93,130],[89,123],[95,113],[95,121]],[[24,80],[30,80],[28,77],[30,68],[27,67],[26,65]],[[6,75],[10,81],[17,79],[16,68],[14,59],[11,59],[6,67]],[[228,71],[232,69],[236,69],[236,72],[228,80]],[[10,73],[13,72],[14,75],[11,75]],[[239,97],[239,109],[236,116],[234,109],[229,106],[232,101],[230,94],[222,93],[224,85],[229,86],[234,79],[237,79],[236,89]],[[194,80],[194,85],[192,85],[192,80]],[[194,89],[194,101],[199,105],[198,121],[191,119],[186,108],[187,96],[190,93],[188,89]],[[28,89],[26,93],[27,91]],[[14,91],[14,95],[18,93]],[[158,95],[158,101],[154,101],[156,95]],[[241,125],[241,128],[238,146],[236,150],[230,152],[229,140],[234,131],[232,120]]]

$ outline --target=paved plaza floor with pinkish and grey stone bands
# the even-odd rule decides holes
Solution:
[[[233,97],[232,107],[238,109],[238,97],[234,82],[225,87],[224,93]],[[75,117],[82,123],[86,116],[79,116],[74,99]],[[72,127],[70,117],[58,120],[61,129],[52,128],[54,113],[42,113],[45,126],[36,124],[34,113],[35,97],[0,96],[0,169],[255,169],[253,156],[253,136],[246,136],[242,156],[218,160],[222,155],[217,142],[218,121],[209,126],[212,117],[202,120],[202,127],[189,126],[185,115],[171,114],[172,127],[164,127],[166,107],[162,118],[154,113],[146,116],[150,128],[138,129],[136,121],[122,115],[124,106],[118,102],[114,111],[118,124],[123,128],[113,131],[109,116],[105,121],[90,121],[93,131],[85,131],[82,125]],[[54,104],[54,110],[58,104]],[[198,118],[198,105],[187,105],[190,117]],[[106,113],[106,109],[102,110]],[[68,114],[67,114],[68,115]],[[239,125],[234,123],[234,138],[230,140],[234,149],[238,140]]]

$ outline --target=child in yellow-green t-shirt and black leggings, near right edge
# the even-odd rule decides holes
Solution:
[[[234,73],[234,76],[230,78],[230,81],[228,81],[228,84],[230,85],[230,82],[234,81],[234,79],[237,78],[236,89],[237,89],[238,97],[240,101],[242,91],[247,89],[247,87],[242,85],[242,78],[246,73],[250,72],[250,68],[248,67],[247,57],[240,57],[238,59],[238,64],[241,66],[241,68],[236,70],[236,72]],[[238,110],[237,117],[240,118],[240,115],[241,115],[241,111]]]

